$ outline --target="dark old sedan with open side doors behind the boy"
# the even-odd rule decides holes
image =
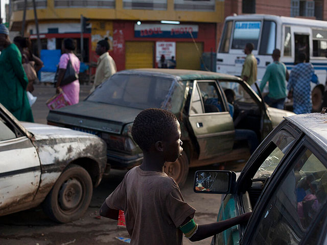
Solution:
[[[100,136],[107,143],[108,165],[131,168],[143,159],[131,137],[135,116],[146,108],[172,111],[181,125],[184,152],[166,173],[182,185],[189,167],[248,159],[245,143],[234,142],[235,127],[224,93],[236,94],[235,108],[246,111],[239,127],[263,139],[283,116],[269,108],[240,78],[199,70],[135,69],[117,72],[83,102],[49,112],[48,124]]]

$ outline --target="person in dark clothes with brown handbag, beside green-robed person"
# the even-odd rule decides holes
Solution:
[[[31,41],[29,38],[16,36],[16,37],[14,37],[13,41],[21,53],[22,64],[25,68],[26,75],[29,79],[29,83],[27,85],[26,90],[29,92],[33,92],[33,90],[34,90],[33,83],[34,83],[36,77],[34,77],[34,80],[30,79],[29,74],[28,74],[29,70],[26,70],[26,67],[28,67],[30,65],[30,68],[33,69],[35,72],[34,74],[37,74],[37,72],[43,67],[43,62],[41,61],[40,58],[33,55],[32,49],[31,49],[32,44],[31,44]]]

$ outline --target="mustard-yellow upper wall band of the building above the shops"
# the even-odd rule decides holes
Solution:
[[[203,3],[205,4],[205,2]],[[123,0],[115,1],[115,9],[103,8],[54,8],[54,0],[48,0],[46,9],[37,9],[38,19],[80,19],[80,15],[91,19],[124,20],[178,20],[194,22],[223,22],[224,1],[216,0],[216,11],[175,11],[174,0],[167,0],[167,10],[129,10],[123,9]],[[23,11],[12,13],[11,20],[21,21]],[[27,21],[34,21],[33,10],[26,11]]]

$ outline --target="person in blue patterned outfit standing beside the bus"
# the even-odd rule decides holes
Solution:
[[[314,68],[311,63],[306,63],[306,54],[300,53],[299,63],[295,65],[290,74],[287,89],[293,97],[293,112],[295,114],[310,113],[312,110],[310,81],[313,79]]]

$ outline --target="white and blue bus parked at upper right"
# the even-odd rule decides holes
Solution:
[[[258,60],[258,80],[272,63],[272,51],[281,50],[281,61],[288,71],[298,63],[298,54],[307,54],[319,82],[327,74],[327,21],[267,14],[228,16],[217,51],[217,72],[240,76],[245,60],[245,44],[254,44],[252,54]],[[315,85],[312,84],[312,89]]]

